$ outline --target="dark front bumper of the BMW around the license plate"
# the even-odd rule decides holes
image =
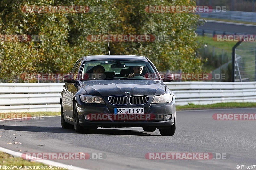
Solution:
[[[153,97],[152,97],[153,98]],[[174,124],[174,118],[176,116],[175,109],[175,97],[173,97],[170,103],[151,104],[146,105],[125,105],[125,106],[114,106],[108,103],[104,98],[106,104],[90,104],[84,103],[80,100],[80,97],[76,97],[77,112],[79,117],[79,124],[84,128],[90,127],[103,127],[103,128],[121,128],[121,127],[145,127],[154,126],[156,128],[168,128]],[[150,101],[150,100],[149,100]],[[152,100],[151,100],[152,101]],[[86,115],[91,114],[113,114],[114,108],[140,108],[144,107],[146,115],[151,115],[150,120],[86,120]],[[168,120],[164,119],[165,115],[169,115]]]

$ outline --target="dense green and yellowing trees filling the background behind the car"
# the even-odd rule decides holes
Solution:
[[[102,7],[100,12],[34,13],[24,6]],[[0,35],[40,36],[41,41],[0,42],[0,79],[12,81],[26,73],[67,73],[82,56],[108,54],[107,42],[88,41],[90,35],[168,36],[168,41],[111,42],[111,54],[143,55],[159,70],[200,72],[196,57],[198,16],[192,13],[148,13],[147,5],[195,5],[194,2],[103,0],[3,0]],[[35,38],[35,37],[34,37]]]

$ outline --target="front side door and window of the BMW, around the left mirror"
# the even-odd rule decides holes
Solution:
[[[73,69],[71,70],[70,74],[72,75],[73,79],[76,80],[75,83],[66,83],[65,90],[66,90],[66,114],[70,117],[73,117],[73,97],[77,92],[77,75],[79,72],[79,68],[81,66],[81,60],[78,60],[74,65]]]

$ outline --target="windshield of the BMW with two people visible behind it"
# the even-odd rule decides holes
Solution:
[[[80,80],[136,79],[161,80],[149,62],[133,60],[86,61]]]

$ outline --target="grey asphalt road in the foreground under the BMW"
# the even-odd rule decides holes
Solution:
[[[60,117],[0,122],[1,147],[21,153],[104,153],[103,160],[56,160],[92,170],[236,169],[256,164],[256,121],[214,120],[214,113],[255,113],[256,108],[177,112],[172,137],[142,128],[99,128],[90,134],[62,129]],[[19,142],[19,144],[14,144]],[[12,143],[12,144],[7,144]],[[21,150],[21,151],[19,151]],[[148,160],[146,153],[224,153],[227,159]],[[255,167],[256,169],[256,167]]]

